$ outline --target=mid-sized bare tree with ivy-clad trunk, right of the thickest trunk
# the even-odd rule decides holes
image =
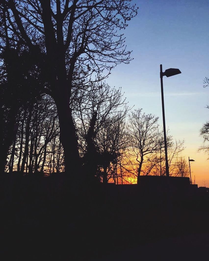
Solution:
[[[120,127],[116,124],[124,120],[128,109],[121,88],[111,88],[102,82],[91,84],[88,92],[84,91],[80,94],[79,103],[74,106],[73,116],[85,173],[87,172],[91,176],[96,175],[98,168],[101,167],[102,159],[105,159],[105,155],[107,156],[109,153],[106,151],[104,154],[104,151],[101,150],[101,142],[98,141],[98,137],[101,139],[101,132],[110,128],[109,126],[112,126],[111,131],[113,131],[113,126],[115,126],[115,133],[119,131]],[[120,138],[118,138],[119,140]],[[103,140],[103,142],[105,141]],[[101,171],[99,172],[101,173]]]

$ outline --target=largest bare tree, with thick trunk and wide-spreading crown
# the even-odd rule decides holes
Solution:
[[[27,46],[39,59],[49,83],[45,93],[57,107],[66,171],[74,173],[80,159],[71,105],[85,78],[101,80],[131,60],[117,29],[126,28],[137,8],[128,0],[2,0],[2,7],[7,19],[2,37]]]

